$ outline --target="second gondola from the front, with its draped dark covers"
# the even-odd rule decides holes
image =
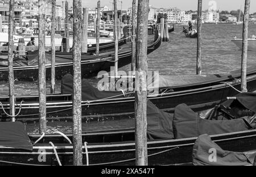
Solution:
[[[62,94],[47,95],[47,119],[61,120],[72,119],[72,75],[65,75],[62,86]],[[173,113],[174,108],[181,103],[186,103],[194,111],[201,111],[220,104],[227,96],[238,94],[241,87],[240,70],[229,74],[209,75],[208,77],[195,77],[188,75],[165,76],[159,81],[159,94],[148,96],[148,100],[156,104],[163,111]],[[163,81],[163,83],[162,83]],[[176,83],[177,81],[183,81]],[[105,117],[119,118],[123,115],[133,115],[133,92],[123,95],[122,91],[98,91],[86,79],[82,80],[82,120],[104,119]],[[247,88],[256,90],[255,66],[247,69]],[[153,89],[153,88],[152,88]],[[37,121],[39,110],[38,95],[15,96],[16,117],[18,121]],[[0,97],[2,109],[0,120],[9,121],[9,117],[3,112],[9,112],[9,97]]]

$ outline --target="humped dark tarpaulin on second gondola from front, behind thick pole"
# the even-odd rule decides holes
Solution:
[[[73,94],[73,76],[66,74],[62,78],[61,94]],[[86,79],[82,79],[82,100],[91,101],[106,98],[123,98],[121,91],[100,91],[93,87]]]

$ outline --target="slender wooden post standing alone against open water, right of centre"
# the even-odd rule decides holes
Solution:
[[[198,0],[197,7],[197,53],[196,53],[196,74],[201,75],[202,63],[201,63],[201,28],[202,28],[202,0]]]

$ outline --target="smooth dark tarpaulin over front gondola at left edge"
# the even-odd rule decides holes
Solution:
[[[0,146],[30,151],[33,149],[25,127],[20,122],[0,123]]]

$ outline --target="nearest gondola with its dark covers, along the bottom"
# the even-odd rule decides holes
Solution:
[[[256,94],[237,95],[237,98],[240,99],[243,96],[245,103],[253,104],[251,106],[247,104],[241,108],[241,103],[240,105],[230,103],[228,110],[238,106],[239,110],[247,109],[255,116]],[[251,97],[254,101],[247,102],[246,100]],[[226,109],[222,110],[225,106],[227,106],[226,102],[214,111],[219,112],[218,114],[203,119],[185,104],[177,106],[175,113],[170,114],[160,111],[154,104],[148,102],[148,165],[191,165],[195,141],[198,136],[207,133],[222,149],[240,152],[255,150],[256,121],[251,119],[253,116],[234,119],[235,115],[226,113]],[[179,120],[182,121],[181,124]],[[244,120],[252,121],[249,123]],[[192,127],[191,123],[194,124]],[[5,141],[1,141],[0,138],[0,165],[72,165],[71,135],[27,136],[22,123],[1,123],[0,126],[2,127],[0,136],[12,132],[10,137],[5,136]],[[135,165],[135,142],[132,129],[84,133],[82,142],[84,165]]]

